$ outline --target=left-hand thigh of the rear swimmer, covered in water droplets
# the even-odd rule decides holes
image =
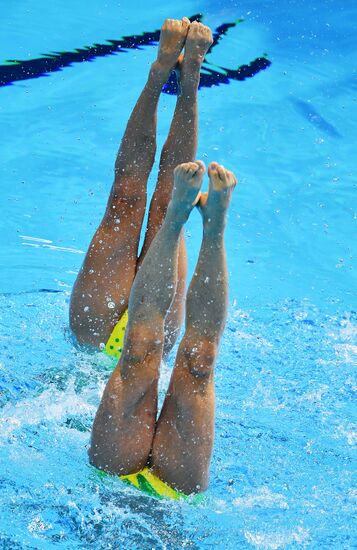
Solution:
[[[145,214],[142,182],[113,186],[98,227],[74,284],[71,328],[81,344],[106,343],[127,308],[135,277],[138,245]],[[132,192],[131,190],[135,190]]]

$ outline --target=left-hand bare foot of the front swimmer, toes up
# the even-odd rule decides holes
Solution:
[[[174,170],[170,211],[178,221],[186,221],[200,198],[206,167],[201,160],[179,164]]]

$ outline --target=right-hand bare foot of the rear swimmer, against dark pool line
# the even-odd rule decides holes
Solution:
[[[209,27],[197,21],[190,24],[185,42],[185,55],[178,59],[183,89],[192,84],[198,85],[201,65],[212,42],[212,31]]]

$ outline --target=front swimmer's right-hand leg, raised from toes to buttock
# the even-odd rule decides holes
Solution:
[[[186,494],[207,488],[214,438],[213,371],[227,311],[223,233],[236,184],[232,172],[209,167],[208,198],[202,194],[203,240],[186,303],[180,344],[157,423],[151,464],[156,475]]]

